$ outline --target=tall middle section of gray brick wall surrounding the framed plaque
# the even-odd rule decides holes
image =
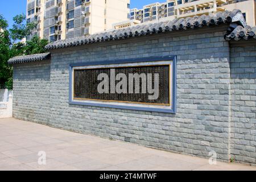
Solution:
[[[186,154],[229,159],[229,44],[224,32],[100,43],[51,55],[49,124]],[[177,55],[177,114],[69,105],[69,64]]]

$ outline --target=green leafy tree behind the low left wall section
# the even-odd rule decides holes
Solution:
[[[26,23],[24,14],[16,15],[13,27],[7,30],[8,22],[0,15],[0,88],[13,88],[13,68],[7,61],[14,56],[31,55],[44,53],[44,47],[48,40],[34,36],[26,43],[24,38],[31,35],[31,31],[36,27],[36,22]]]

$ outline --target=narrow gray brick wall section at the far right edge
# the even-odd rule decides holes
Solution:
[[[256,46],[232,47],[231,155],[255,163],[256,152]]]

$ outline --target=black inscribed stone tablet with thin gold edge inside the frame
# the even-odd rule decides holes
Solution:
[[[74,69],[73,98],[170,105],[170,65]]]

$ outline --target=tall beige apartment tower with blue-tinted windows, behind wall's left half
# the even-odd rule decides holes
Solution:
[[[38,22],[32,36],[49,42],[94,34],[129,20],[130,0],[27,0],[27,22]]]

